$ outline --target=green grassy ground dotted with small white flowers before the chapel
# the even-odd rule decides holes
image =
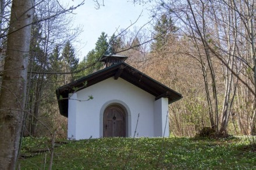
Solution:
[[[52,169],[256,169],[246,138],[102,138],[56,145]],[[21,169],[48,169],[47,138],[24,138]]]

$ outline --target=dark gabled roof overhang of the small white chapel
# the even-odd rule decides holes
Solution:
[[[114,77],[115,79],[118,79],[119,77],[125,79],[127,82],[130,82],[138,88],[141,88],[155,96],[155,100],[166,97],[170,104],[182,99],[182,95],[180,93],[177,93],[160,82],[155,81],[138,71],[136,68],[131,67],[129,64],[120,62],[56,89],[60,113],[65,117],[68,117],[69,93],[80,91],[81,89],[87,88],[88,86],[97,84],[98,82],[111,77]]]

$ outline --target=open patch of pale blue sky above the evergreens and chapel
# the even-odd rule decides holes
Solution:
[[[69,5],[75,5],[80,1],[68,1]],[[66,1],[67,2],[67,1]],[[80,6],[73,13],[76,13],[73,26],[81,26],[79,44],[75,44],[77,55],[80,59],[87,55],[87,53],[95,48],[95,43],[101,32],[105,32],[109,37],[113,35],[116,30],[120,28],[127,28],[134,23],[138,17],[138,21],[134,27],[140,28],[150,20],[150,6],[148,3],[145,5],[134,4],[127,0],[98,0],[104,2],[104,6],[100,9],[95,9],[96,5],[94,0],[86,0],[83,6]]]

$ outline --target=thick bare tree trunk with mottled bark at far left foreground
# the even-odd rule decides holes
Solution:
[[[23,125],[32,0],[13,0],[0,96],[0,169],[15,169]]]

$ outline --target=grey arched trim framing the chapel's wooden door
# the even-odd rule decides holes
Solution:
[[[126,114],[126,137],[131,136],[131,111],[130,108],[127,106],[127,104],[121,100],[109,100],[108,102],[104,103],[101,107],[100,113],[99,113],[99,136],[102,138],[103,135],[103,120],[104,120],[104,111],[107,107],[111,105],[119,106],[125,111]]]

